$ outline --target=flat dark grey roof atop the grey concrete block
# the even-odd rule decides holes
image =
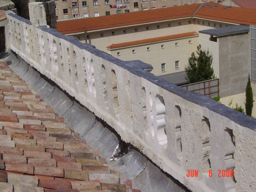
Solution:
[[[207,29],[199,31],[199,33],[204,33],[213,36],[225,36],[225,35],[232,35],[237,33],[246,33],[250,31],[250,26],[248,25],[232,25],[228,27],[219,27],[215,29]]]

